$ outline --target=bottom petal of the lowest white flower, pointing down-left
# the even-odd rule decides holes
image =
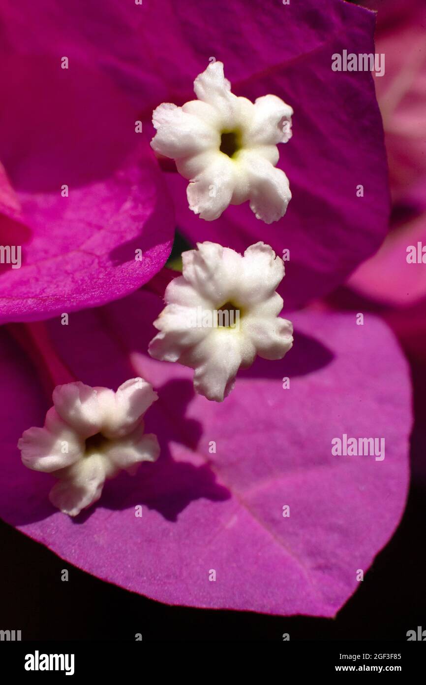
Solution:
[[[101,456],[81,459],[58,474],[49,499],[64,514],[77,516],[102,495],[105,483],[105,464]]]

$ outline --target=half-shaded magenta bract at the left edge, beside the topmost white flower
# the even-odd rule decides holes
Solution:
[[[0,323],[123,297],[172,245],[172,203],[135,107],[96,60],[70,53],[62,69],[63,54],[0,48],[0,245],[21,258],[0,265]]]

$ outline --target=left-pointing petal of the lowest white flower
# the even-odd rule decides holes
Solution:
[[[24,466],[34,471],[57,471],[74,463],[84,451],[84,440],[51,408],[43,428],[29,428],[18,440]]]

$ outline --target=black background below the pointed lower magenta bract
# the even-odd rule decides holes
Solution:
[[[366,535],[369,532],[366,531]],[[336,619],[173,607],[75,569],[0,521],[1,626],[23,640],[406,640],[426,629],[426,498],[403,520]],[[68,569],[69,580],[61,580]]]

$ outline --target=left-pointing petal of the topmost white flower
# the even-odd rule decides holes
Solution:
[[[166,157],[179,159],[220,145],[220,136],[213,127],[171,103],[157,107],[152,123],[157,134],[151,146]]]

